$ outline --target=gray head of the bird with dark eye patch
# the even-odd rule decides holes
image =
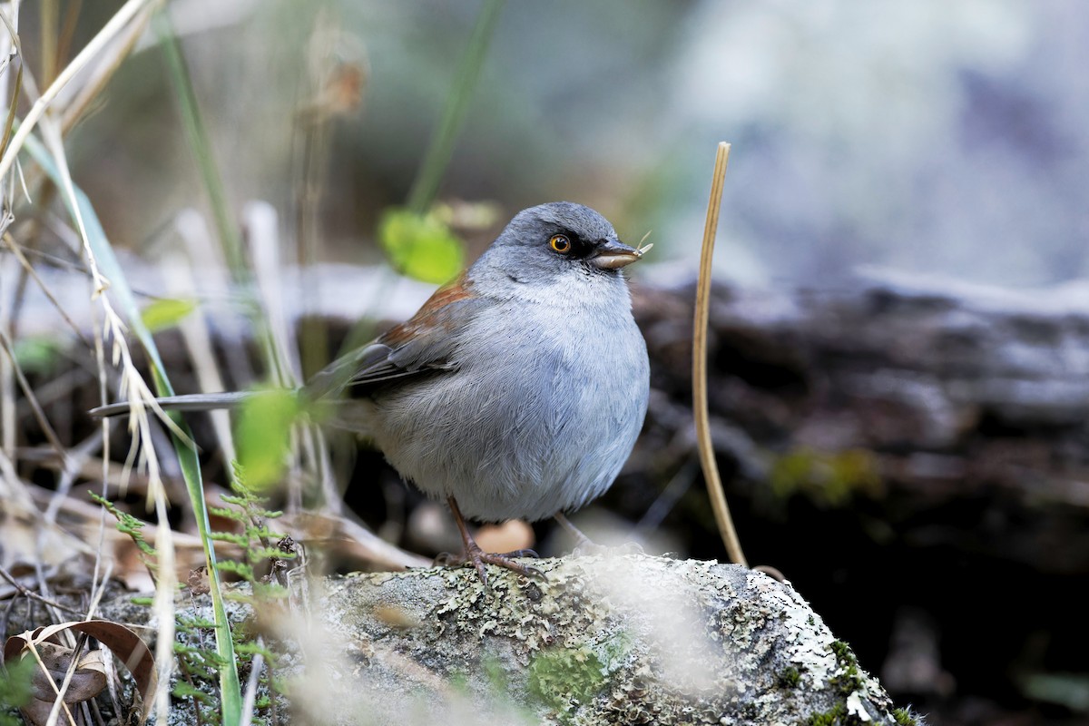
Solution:
[[[516,282],[547,283],[575,269],[620,279],[620,269],[637,259],[639,251],[620,242],[604,217],[583,205],[552,201],[518,212],[470,276],[489,269]]]

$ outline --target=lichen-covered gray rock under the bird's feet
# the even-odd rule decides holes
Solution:
[[[790,585],[646,555],[535,563],[547,581],[417,569],[327,581],[290,670],[322,724],[896,724]],[[292,625],[294,623],[294,625]],[[283,674],[281,674],[283,675]]]

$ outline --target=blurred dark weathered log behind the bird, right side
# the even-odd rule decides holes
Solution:
[[[658,392],[648,451],[676,448],[685,420],[692,291],[637,297]],[[715,448],[735,487],[833,506],[860,495],[885,503],[879,518],[908,539],[1089,569],[1089,282],[1014,292],[886,273],[821,293],[719,286],[711,327]],[[915,527],[923,512],[957,521],[965,501],[983,526]]]

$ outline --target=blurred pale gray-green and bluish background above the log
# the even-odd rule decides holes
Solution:
[[[318,218],[331,258],[372,258],[479,5],[172,3],[230,200],[297,208],[305,109],[355,69]],[[724,275],[1056,282],[1089,264],[1087,56],[1089,8],[1063,0],[510,3],[440,197],[507,212],[575,199],[629,239],[653,230],[660,260],[690,260],[726,139]],[[106,99],[71,137],[75,177],[117,242],[145,246],[201,198],[161,53],[137,54]]]

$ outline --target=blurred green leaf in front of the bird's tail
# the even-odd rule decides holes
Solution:
[[[261,391],[243,404],[235,441],[238,465],[252,489],[267,489],[283,478],[291,427],[298,415],[298,398],[283,389]]]

